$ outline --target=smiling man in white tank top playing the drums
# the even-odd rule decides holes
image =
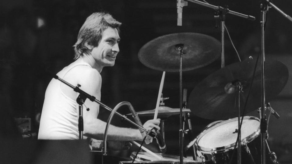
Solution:
[[[119,52],[119,27],[121,23],[110,14],[99,12],[91,14],[79,30],[75,43],[75,61],[57,73],[73,86],[80,84],[83,91],[100,100],[101,75],[104,67],[114,66]],[[38,139],[78,139],[79,106],[76,103],[78,93],[72,88],[52,79],[47,86],[44,105],[40,118]],[[97,140],[103,139],[106,122],[97,118],[99,104],[85,101],[84,106],[90,110],[83,111],[83,134]],[[143,127],[147,130],[159,128],[160,120],[148,120]],[[142,135],[138,129],[109,126],[109,148],[128,149],[125,141],[140,140]],[[127,144],[126,144],[127,143]],[[97,146],[98,147],[98,146]],[[99,145],[102,147],[102,145]]]

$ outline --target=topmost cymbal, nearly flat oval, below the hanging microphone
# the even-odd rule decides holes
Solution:
[[[138,52],[142,64],[154,70],[179,72],[182,48],[182,71],[204,67],[221,53],[221,43],[215,38],[200,33],[174,33],[160,36],[146,43]]]

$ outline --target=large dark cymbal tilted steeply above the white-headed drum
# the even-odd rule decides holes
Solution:
[[[251,85],[256,60],[233,63],[212,73],[191,92],[188,105],[192,113],[201,118],[219,120],[238,116],[238,87],[241,82],[240,109],[243,112]],[[245,114],[262,106],[262,64],[258,62],[255,77],[248,97]],[[266,103],[279,94],[288,80],[288,68],[276,60],[265,61]]]

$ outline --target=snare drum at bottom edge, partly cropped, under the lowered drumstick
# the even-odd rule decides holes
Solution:
[[[136,152],[132,152],[131,159],[135,157]],[[168,155],[162,153],[155,153],[160,157],[157,159],[153,155],[147,152],[139,152],[134,163],[135,164],[180,164],[180,157],[176,155]],[[184,164],[202,164],[202,162],[197,162],[192,159],[184,158]],[[119,164],[128,164],[132,161],[121,161]]]

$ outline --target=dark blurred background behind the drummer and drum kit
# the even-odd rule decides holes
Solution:
[[[213,5],[228,5],[230,10],[256,17],[255,21],[227,15],[226,26],[241,59],[260,53],[260,9],[258,0],[210,0]],[[275,0],[274,4],[292,15],[292,2]],[[145,67],[138,60],[139,49],[158,36],[177,32],[196,32],[220,40],[220,28],[215,28],[214,10],[191,2],[183,8],[183,26],[177,26],[176,1],[170,0],[10,0],[0,2],[0,100],[3,136],[13,133],[12,118],[31,118],[32,133],[38,130],[44,93],[51,77],[43,72],[47,68],[57,73],[73,61],[73,44],[86,17],[92,12],[106,11],[122,22],[120,53],[114,67],[106,67],[101,75],[102,99],[114,108],[121,101],[132,103],[136,111],[155,108],[162,72]],[[292,22],[274,9],[269,9],[266,26],[266,55],[283,62],[292,69]],[[225,36],[226,65],[238,62],[228,36]],[[153,54],[153,57],[155,54]],[[192,71],[183,72],[183,88],[188,95],[201,80],[220,69],[220,59]],[[290,73],[289,73],[290,74]],[[268,89],[268,88],[267,88]],[[259,90],[260,91],[260,90]],[[166,73],[165,105],[179,108],[179,73]],[[291,163],[292,113],[291,80],[271,105],[280,119],[271,116],[269,143],[279,161]],[[255,110],[259,107],[255,107]],[[223,109],[220,109],[223,110]],[[127,108],[119,110],[128,114]],[[100,119],[106,120],[108,111],[100,110]],[[259,117],[257,112],[247,115]],[[141,118],[145,121],[147,118]],[[220,118],[218,118],[220,120]],[[191,115],[193,132],[201,130],[215,120]],[[113,124],[121,123],[115,117]],[[178,155],[179,117],[173,115],[165,121],[167,153]],[[186,141],[188,142],[188,140]]]

